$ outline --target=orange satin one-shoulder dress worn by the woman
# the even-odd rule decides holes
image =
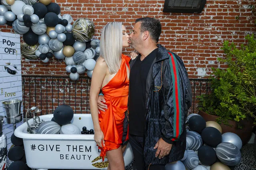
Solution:
[[[105,146],[101,149],[100,156],[104,156],[109,150],[117,149],[122,144],[123,120],[127,111],[129,78],[127,68],[130,57],[122,54],[122,63],[117,74],[101,90],[104,94],[108,109],[99,114],[99,124],[104,134]]]

